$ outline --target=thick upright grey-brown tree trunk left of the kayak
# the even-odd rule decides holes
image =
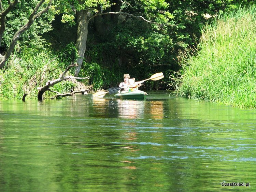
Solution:
[[[88,10],[81,10],[76,12],[77,16],[77,34],[76,34],[76,49],[79,54],[77,59],[77,67],[74,76],[77,77],[84,60],[84,53],[86,50],[86,41],[88,35]]]

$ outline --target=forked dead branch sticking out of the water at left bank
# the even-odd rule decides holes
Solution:
[[[72,63],[72,64],[69,65],[69,67],[67,67],[67,69],[60,75],[60,77],[59,77],[58,79],[49,80],[49,81],[45,84],[45,86],[43,86],[43,87],[38,87],[38,88],[37,88],[37,89],[39,90],[39,91],[38,91],[38,95],[37,95],[38,100],[39,100],[39,101],[42,101],[42,100],[43,100],[43,94],[44,94],[45,91],[51,91],[51,92],[55,92],[55,93],[57,93],[57,94],[61,94],[61,93],[59,93],[59,92],[57,92],[57,91],[52,91],[52,90],[50,89],[50,87],[53,86],[53,85],[55,85],[55,84],[57,84],[57,83],[59,83],[59,82],[62,82],[63,80],[67,80],[67,79],[88,79],[88,78],[89,78],[89,77],[74,77],[74,76],[72,76],[72,75],[65,76],[66,73],[70,70],[70,68],[75,67],[75,66],[77,66],[77,64]]]

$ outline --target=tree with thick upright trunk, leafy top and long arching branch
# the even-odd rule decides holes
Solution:
[[[128,17],[142,19],[147,23],[157,24],[156,22],[153,22],[150,20],[155,16],[153,14],[151,15],[147,14],[148,19],[146,19],[141,15],[136,16],[132,13],[122,12],[121,11],[122,5],[131,6],[130,3],[125,3],[122,0],[86,0],[86,1],[67,0],[65,2],[58,1],[57,4],[61,5],[62,7],[61,10],[66,11],[67,13],[70,12],[72,8],[74,8],[76,10],[76,17],[77,17],[76,49],[78,51],[79,58],[76,61],[78,66],[75,69],[74,76],[78,76],[83,63],[84,54],[86,51],[87,36],[88,36],[88,23],[91,19],[94,18],[96,29],[100,34],[104,34],[106,30],[110,27],[108,26],[108,24],[106,24],[107,23],[106,20],[112,19],[112,21],[114,21],[113,23],[117,24],[118,15],[126,15]],[[142,3],[142,6],[146,6],[146,8],[148,9],[158,10],[159,14],[162,8],[165,9],[168,6],[168,3],[162,0],[153,0],[152,2],[148,2],[147,0],[144,0],[144,1],[141,1],[141,3]],[[72,5],[72,6],[70,7],[67,5]],[[111,17],[110,15],[113,15],[113,16]],[[71,18],[74,18],[74,17],[68,14],[64,14],[62,16],[62,21],[70,22],[72,20]],[[165,23],[168,23],[168,19],[165,21]]]

